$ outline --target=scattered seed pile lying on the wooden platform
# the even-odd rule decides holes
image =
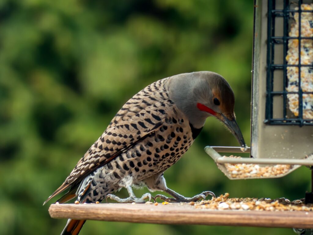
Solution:
[[[212,198],[208,201],[196,202],[199,209],[211,210],[255,210],[255,211],[313,211],[313,205],[305,205],[303,200],[289,201],[285,198],[228,198],[229,193]]]

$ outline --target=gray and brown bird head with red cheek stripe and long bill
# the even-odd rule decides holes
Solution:
[[[235,96],[222,76],[209,71],[172,76],[169,79],[169,94],[194,128],[202,128],[208,117],[215,117],[246,148],[234,113]]]

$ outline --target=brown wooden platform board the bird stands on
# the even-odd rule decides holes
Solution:
[[[201,224],[255,227],[313,228],[313,212],[213,211],[171,203],[146,204],[52,204],[56,219],[84,219],[155,224]]]

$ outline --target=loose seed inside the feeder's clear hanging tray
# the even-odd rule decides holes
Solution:
[[[223,156],[227,158],[226,156]],[[229,158],[241,158],[230,155]],[[270,177],[283,175],[288,172],[292,167],[291,165],[269,165],[260,166],[259,164],[230,164],[225,163],[225,167],[231,177],[233,178],[250,178],[250,177]]]

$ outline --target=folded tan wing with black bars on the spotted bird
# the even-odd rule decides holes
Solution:
[[[78,186],[85,176],[157,131],[165,121],[167,122],[168,111],[176,112],[164,90],[147,92],[146,89],[147,87],[121,108],[109,127],[45,203],[70,186]]]

